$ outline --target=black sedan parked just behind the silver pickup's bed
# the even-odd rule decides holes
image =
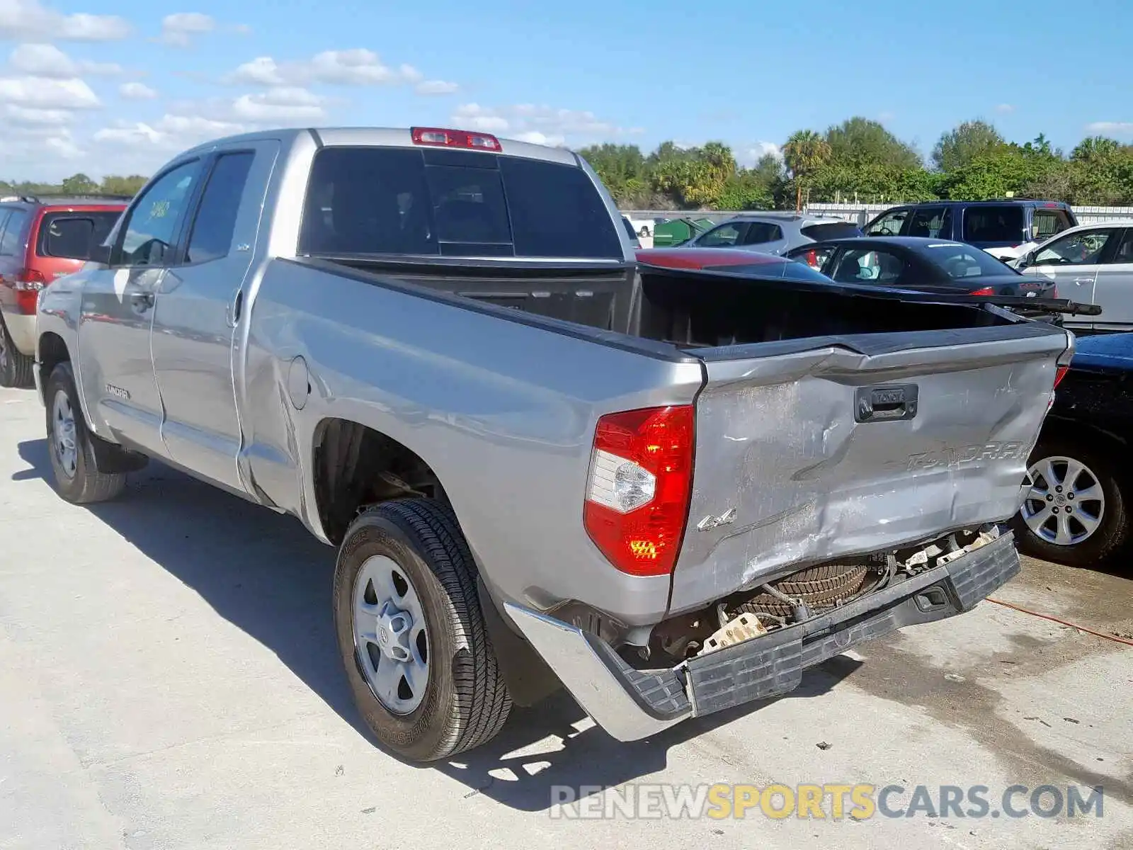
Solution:
[[[1056,298],[1053,281],[1021,274],[986,250],[948,239],[915,236],[832,239],[787,252],[838,283],[949,295]]]

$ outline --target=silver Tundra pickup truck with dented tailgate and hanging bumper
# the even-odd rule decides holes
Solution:
[[[56,486],[154,458],[337,546],[349,686],[403,757],[562,686],[644,738],[1019,569],[998,522],[1072,334],[767,270],[639,267],[565,150],[221,139],[41,295]]]

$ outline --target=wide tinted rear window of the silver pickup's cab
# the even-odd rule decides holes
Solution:
[[[312,167],[299,253],[621,258],[616,227],[573,165],[325,147]]]

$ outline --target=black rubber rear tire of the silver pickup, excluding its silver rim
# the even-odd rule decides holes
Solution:
[[[406,712],[387,706],[377,696],[378,687],[372,685],[380,678],[370,663],[374,653],[382,652],[381,620],[375,640],[358,637],[366,630],[365,612],[358,614],[356,610],[363,603],[372,605],[372,588],[376,593],[373,606],[383,604],[376,590],[378,583],[366,577],[377,569],[372,564],[386,564],[384,559],[393,564],[389,569],[401,573],[401,584],[408,583],[409,590],[416,594],[427,632],[427,654],[421,652],[419,636],[408,644],[412,651],[410,665],[420,657],[427,661],[427,683],[412,691],[416,705],[407,698]],[[409,760],[435,762],[478,747],[500,732],[511,711],[511,696],[488,638],[476,578],[455,517],[429,499],[398,499],[366,510],[350,525],[339,549],[334,624],[350,690],[378,741]],[[394,620],[408,614],[410,626],[400,623],[404,632],[418,626],[408,613],[414,607],[407,602],[409,590],[392,609],[403,609]],[[393,603],[394,597],[386,601]],[[383,669],[380,664],[386,660],[378,658],[375,666]],[[411,690],[410,677],[397,681],[391,698],[400,700],[403,692]]]

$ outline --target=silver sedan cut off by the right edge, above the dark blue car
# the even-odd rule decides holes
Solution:
[[[1049,280],[1064,296],[1097,304],[1096,318],[1068,317],[1077,332],[1133,330],[1133,219],[1079,224],[1015,261],[1023,274]]]

